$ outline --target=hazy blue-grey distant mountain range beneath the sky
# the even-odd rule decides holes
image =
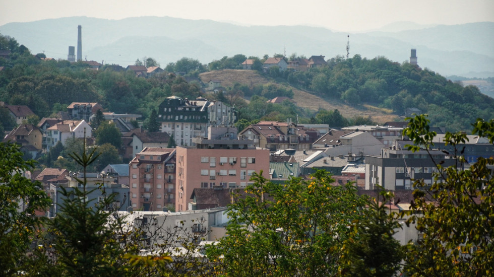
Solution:
[[[135,17],[106,20],[88,17],[48,19],[0,26],[0,33],[17,39],[31,52],[67,58],[77,46],[82,25],[83,58],[122,66],[144,56],[164,67],[182,57],[209,63],[223,56],[275,53],[385,56],[402,62],[417,49],[418,64],[443,76],[494,77],[494,22],[461,25],[417,25],[401,22],[365,33],[332,32],[306,26],[239,26],[212,20]]]

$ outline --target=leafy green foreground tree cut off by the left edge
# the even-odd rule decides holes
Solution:
[[[0,142],[0,275],[15,276],[25,262],[26,251],[39,230],[36,211],[50,199],[39,182],[24,176],[34,162],[24,161],[15,144]]]

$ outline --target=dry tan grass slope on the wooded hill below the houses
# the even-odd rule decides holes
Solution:
[[[221,81],[221,86],[225,88],[232,87],[235,83],[253,87],[258,84],[264,85],[273,82],[252,70],[218,70],[202,73],[199,77],[204,83],[209,82],[209,80],[219,80]],[[284,85],[293,91],[293,100],[298,107],[307,108],[313,112],[317,112],[319,109],[328,111],[338,109],[344,117],[371,116],[378,123],[393,121],[398,117],[395,114],[391,114],[390,110],[380,109],[371,105],[350,106],[340,100],[323,99],[288,84]]]

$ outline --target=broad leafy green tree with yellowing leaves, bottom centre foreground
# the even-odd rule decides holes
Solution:
[[[366,201],[325,171],[274,184],[260,174],[228,207],[227,235],[207,250],[218,275],[328,276]],[[221,256],[223,255],[223,256]]]

